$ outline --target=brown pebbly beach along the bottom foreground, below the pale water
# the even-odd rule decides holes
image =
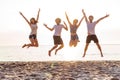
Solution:
[[[120,61],[0,62],[0,80],[119,79]]]

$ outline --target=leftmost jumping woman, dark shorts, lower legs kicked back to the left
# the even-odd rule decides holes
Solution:
[[[20,12],[20,15],[26,20],[26,22],[29,24],[30,28],[31,28],[31,33],[29,35],[29,40],[30,40],[30,44],[24,44],[22,46],[22,48],[24,47],[38,47],[38,40],[37,40],[37,23],[38,23],[38,19],[39,19],[39,13],[40,13],[40,9],[38,10],[38,14],[37,14],[37,18],[31,18],[30,21],[27,20],[27,18],[22,14],[22,12]]]

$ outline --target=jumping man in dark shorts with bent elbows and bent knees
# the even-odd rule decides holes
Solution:
[[[55,50],[55,55],[57,54],[57,51],[62,49],[64,47],[64,43],[63,40],[61,38],[61,32],[62,32],[62,28],[64,28],[66,31],[68,30],[68,27],[66,25],[66,23],[64,22],[64,25],[60,24],[61,23],[61,19],[60,18],[56,18],[55,19],[56,25],[53,26],[53,28],[49,28],[46,24],[44,24],[44,26],[49,29],[50,31],[55,30],[55,33],[53,35],[53,39],[54,39],[54,46],[49,50],[48,55],[51,56],[51,52],[56,49],[58,47],[58,45],[60,45],[56,50]]]

